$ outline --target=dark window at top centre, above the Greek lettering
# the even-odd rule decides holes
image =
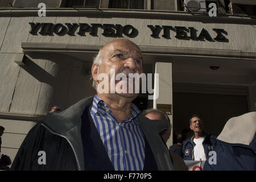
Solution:
[[[113,9],[144,9],[145,0],[110,0],[109,8]]]

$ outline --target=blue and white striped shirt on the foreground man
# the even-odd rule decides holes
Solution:
[[[116,171],[143,170],[145,145],[137,121],[139,113],[139,109],[131,104],[130,118],[119,123],[108,105],[94,96],[90,114]]]

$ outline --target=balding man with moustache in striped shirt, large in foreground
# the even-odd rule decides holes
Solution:
[[[102,47],[92,65],[97,94],[48,114],[33,127],[11,169],[172,170],[168,148],[159,136],[166,123],[148,122],[140,114],[131,103],[138,93],[115,88],[113,92],[111,70],[125,75],[115,84],[129,80],[129,73],[141,74],[139,47],[125,39]]]

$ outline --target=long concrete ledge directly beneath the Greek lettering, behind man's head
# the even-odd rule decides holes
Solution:
[[[88,44],[59,44],[59,43],[22,43],[24,53],[33,52],[55,52],[55,53],[96,53],[102,46]],[[221,49],[201,49],[201,48],[180,48],[180,47],[156,47],[139,46],[144,55],[181,55],[181,56],[205,56],[205,57],[226,57],[236,59],[256,59],[255,52],[221,50]]]

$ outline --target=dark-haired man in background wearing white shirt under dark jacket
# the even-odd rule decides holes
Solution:
[[[209,151],[213,150],[216,136],[207,135],[203,131],[203,121],[199,115],[192,115],[189,119],[189,127],[194,134],[183,143],[184,160],[206,160]]]

